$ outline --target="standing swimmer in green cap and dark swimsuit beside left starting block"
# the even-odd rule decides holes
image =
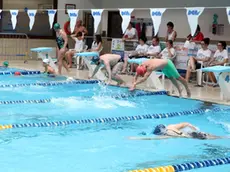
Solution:
[[[56,32],[56,42],[57,42],[57,49],[58,49],[58,73],[61,75],[62,65],[69,71],[67,62],[64,60],[65,53],[68,51],[68,38],[65,33],[61,29],[59,23],[54,24],[54,30]]]

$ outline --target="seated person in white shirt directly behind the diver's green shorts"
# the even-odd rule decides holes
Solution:
[[[166,48],[158,55],[158,58],[174,60],[176,57],[176,50],[173,48],[173,41],[166,42]]]

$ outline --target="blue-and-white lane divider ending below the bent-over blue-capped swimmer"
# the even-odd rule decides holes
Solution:
[[[40,82],[40,83],[28,83],[28,84],[6,84],[0,85],[0,88],[8,87],[28,87],[28,86],[59,86],[66,84],[97,84],[100,83],[98,80],[76,80],[76,81],[55,81],[55,82]]]

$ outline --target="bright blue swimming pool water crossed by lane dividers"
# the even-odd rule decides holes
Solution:
[[[0,104],[0,123],[17,127],[0,131],[2,171],[123,172],[230,156],[226,139],[127,139],[151,132],[160,123],[179,122],[229,135],[228,106],[179,99],[163,92],[130,93],[127,88],[69,82],[66,78],[6,77],[1,76],[0,85],[8,86],[0,86],[0,102],[8,103]],[[194,171],[224,172],[229,167]]]

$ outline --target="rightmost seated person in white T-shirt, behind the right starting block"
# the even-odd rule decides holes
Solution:
[[[217,50],[213,58],[210,60],[208,66],[223,66],[225,63],[228,62],[228,52],[226,50],[226,46],[227,44],[225,41],[218,42]],[[213,83],[217,83],[214,73],[209,72],[208,76]]]

